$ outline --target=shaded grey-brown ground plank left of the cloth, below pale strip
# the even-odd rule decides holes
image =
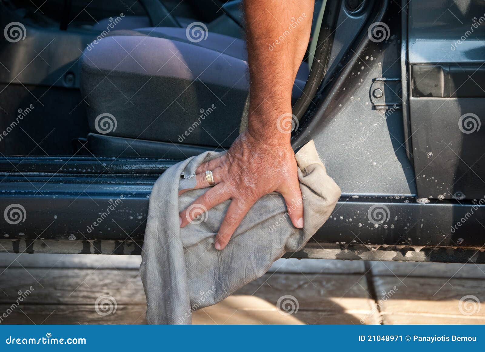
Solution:
[[[9,268],[0,274],[0,304],[15,302],[30,286],[28,304],[94,304],[101,295],[117,304],[146,302],[138,270]]]

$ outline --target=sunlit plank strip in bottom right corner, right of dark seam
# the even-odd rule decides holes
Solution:
[[[481,316],[465,317],[463,315],[434,315],[434,314],[384,314],[384,324],[438,324],[438,325],[451,325],[451,324],[485,324],[485,318]]]

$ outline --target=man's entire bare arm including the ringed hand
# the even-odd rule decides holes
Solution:
[[[193,204],[207,209],[231,203],[214,246],[224,249],[254,203],[263,195],[283,195],[292,224],[302,228],[303,202],[291,148],[291,90],[311,30],[313,0],[245,0],[250,76],[248,128],[227,153],[199,166],[197,186],[208,187],[212,170],[216,185]],[[180,213],[180,225],[191,222]]]

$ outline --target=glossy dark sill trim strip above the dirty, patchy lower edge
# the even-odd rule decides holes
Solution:
[[[166,166],[159,164],[159,172]],[[107,170],[121,172],[111,166]],[[143,240],[149,195],[158,177],[147,171],[142,175],[128,171],[84,177],[6,176],[0,192],[4,214],[0,238]],[[24,209],[21,222],[7,221],[8,207]],[[379,213],[384,217],[376,217]],[[485,246],[485,236],[479,235],[481,224],[485,224],[483,204],[446,200],[422,204],[408,196],[343,195],[312,241],[479,249]]]

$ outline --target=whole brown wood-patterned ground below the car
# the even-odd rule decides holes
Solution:
[[[7,318],[0,322],[146,323],[139,262],[136,256],[2,254],[0,316],[7,312]],[[26,297],[16,306],[19,295]],[[102,295],[116,302],[105,316],[95,309]],[[288,295],[298,310],[283,315],[277,302]],[[485,306],[473,297],[460,304],[466,296],[485,301],[485,265],[280,260],[259,280],[195,312],[193,322],[484,324]]]

